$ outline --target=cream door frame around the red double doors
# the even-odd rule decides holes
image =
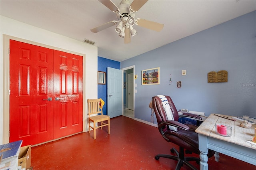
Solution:
[[[16,40],[19,42],[24,43],[30,43],[32,45],[38,45],[41,47],[46,47],[50,49],[55,49],[59,51],[64,51],[67,53],[72,53],[76,55],[81,55],[83,57],[83,101],[86,101],[85,97],[85,54],[77,53],[74,51],[69,51],[66,49],[61,49],[58,47],[53,47],[50,45],[45,45],[42,43],[32,42],[30,40],[24,40],[22,38],[17,38],[13,36],[8,36],[6,34],[3,34],[3,144],[9,143],[9,132],[10,132],[10,96],[9,96],[9,89],[10,89],[10,55],[9,55],[9,48],[10,48],[10,40]],[[84,105],[84,104],[83,104]],[[83,107],[83,132],[85,132],[85,127],[87,125],[87,119],[86,119],[86,105]],[[72,134],[73,135],[73,134]],[[71,135],[69,135],[71,136]],[[64,136],[67,137],[67,136]],[[64,138],[62,137],[62,138]],[[58,138],[59,139],[59,138]],[[58,140],[54,139],[54,140]],[[53,141],[53,140],[51,140]],[[50,141],[47,141],[50,142]],[[46,143],[46,142],[44,142]],[[43,144],[43,143],[42,143]],[[39,145],[39,144],[38,144]]]

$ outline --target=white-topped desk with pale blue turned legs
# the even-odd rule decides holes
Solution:
[[[232,127],[232,135],[230,137],[218,135],[215,131],[216,123]],[[211,114],[196,129],[198,133],[199,150],[201,152],[200,170],[208,170],[208,149],[256,165],[256,145],[246,142],[247,140],[252,140],[256,125],[252,125],[251,128],[242,128],[239,126],[240,123],[242,123],[242,121],[230,121]]]

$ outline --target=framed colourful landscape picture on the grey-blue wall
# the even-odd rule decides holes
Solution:
[[[160,67],[146,69],[141,71],[142,85],[160,84]]]

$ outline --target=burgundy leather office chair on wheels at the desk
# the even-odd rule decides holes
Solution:
[[[179,170],[184,164],[190,167],[193,170],[197,170],[192,164],[188,161],[196,161],[198,164],[200,162],[200,158],[196,157],[184,157],[184,149],[186,150],[185,153],[196,153],[200,154],[198,149],[198,134],[195,132],[197,126],[191,124],[182,124],[178,122],[180,117],[192,117],[195,119],[202,119],[198,115],[194,115],[191,113],[184,113],[179,117],[178,111],[172,102],[172,99],[169,96],[165,96],[169,102],[170,109],[172,111],[172,115],[174,120],[168,120],[166,112],[162,106],[162,100],[155,96],[152,97],[152,107],[154,108],[154,112],[156,115],[157,123],[158,123],[158,130],[164,137],[167,142],[172,142],[178,146],[180,146],[179,152],[172,148],[171,152],[175,153],[175,155],[166,155],[166,154],[158,154],[155,156],[156,160],[160,157],[169,158],[173,160],[178,160],[178,164],[176,166],[176,170]],[[174,130],[170,130],[169,126],[177,127],[177,132]],[[208,151],[208,158],[214,155],[213,150]]]

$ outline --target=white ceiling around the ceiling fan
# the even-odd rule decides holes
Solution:
[[[112,0],[118,6],[121,0]],[[130,0],[132,2],[132,0]],[[97,0],[1,0],[0,14],[75,40],[95,42],[98,56],[123,61],[256,10],[256,0],[149,0],[135,18],[164,24],[161,32],[134,26],[138,34],[125,44],[115,26],[90,29],[117,20]]]

